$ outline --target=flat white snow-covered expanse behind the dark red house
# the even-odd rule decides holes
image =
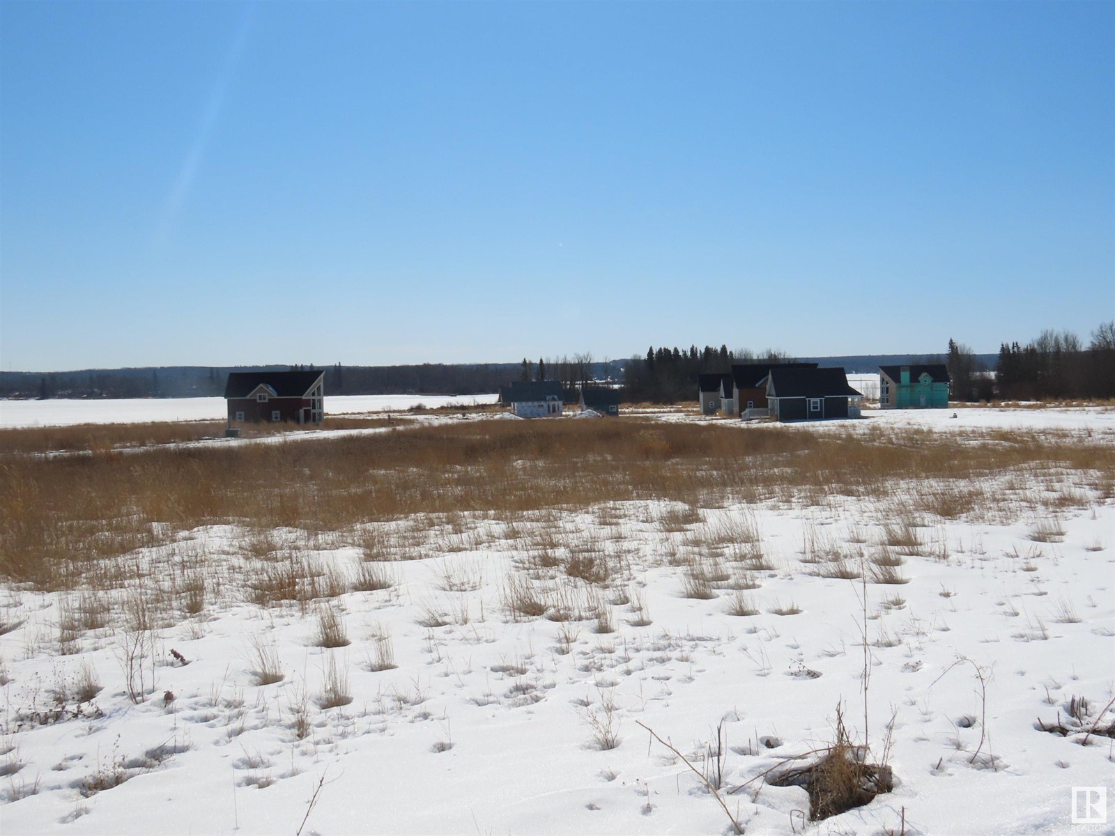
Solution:
[[[333,395],[326,415],[401,412],[411,407],[495,404],[498,395]],[[224,420],[224,398],[135,400],[0,400],[0,427],[59,427],[74,424]]]

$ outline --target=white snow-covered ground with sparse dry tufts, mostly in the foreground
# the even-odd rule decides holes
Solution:
[[[1104,409],[788,431],[849,427],[1115,445]],[[419,514],[359,538],[201,525],[133,553],[147,585],[9,584],[3,830],[734,833],[649,727],[747,834],[1072,833],[1074,787],[1115,806],[1115,503],[1083,472],[1028,478],[959,486],[1022,497],[992,515],[906,517],[900,494]],[[318,597],[237,596],[252,565]],[[894,789],[809,823],[806,790],[764,777],[828,746],[837,707]]]

